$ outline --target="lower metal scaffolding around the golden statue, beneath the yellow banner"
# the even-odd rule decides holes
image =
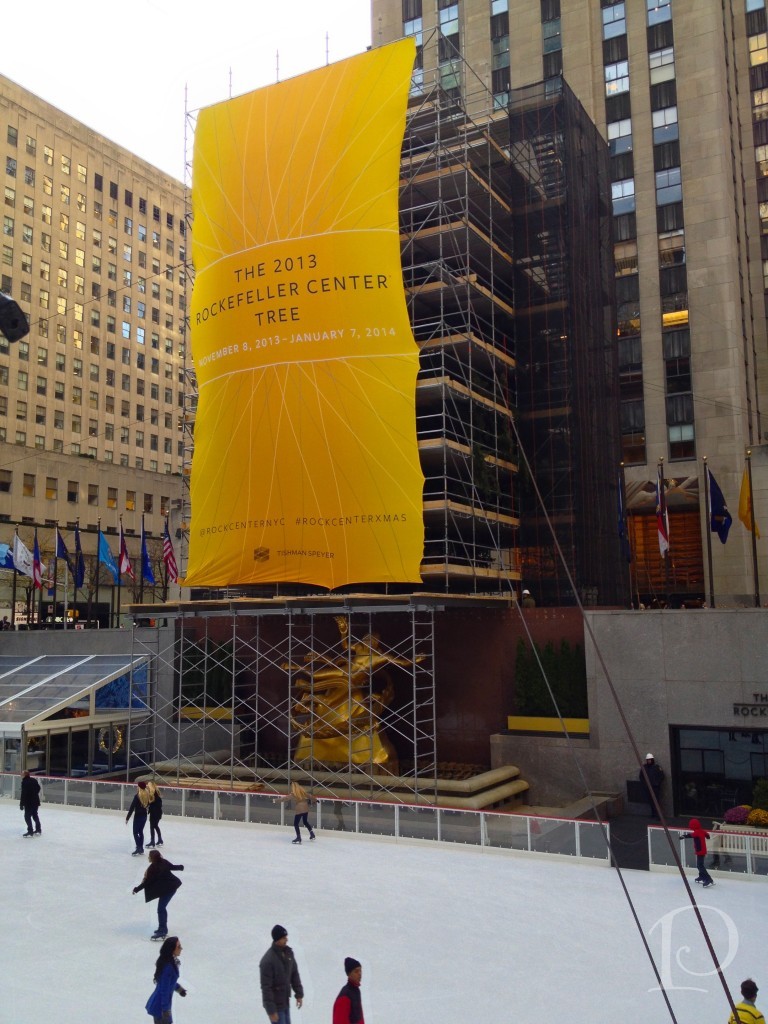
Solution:
[[[434,614],[430,601],[280,599],[169,607],[136,629],[153,665],[151,735],[130,735],[132,773],[178,784],[434,803]],[[141,752],[145,752],[142,754]]]

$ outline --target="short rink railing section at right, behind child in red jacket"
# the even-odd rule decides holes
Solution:
[[[680,849],[681,863],[695,870],[693,843],[687,840],[679,842],[680,836],[686,831],[687,828],[670,828],[673,842]],[[768,835],[765,831],[756,830],[755,835],[741,829],[731,833],[727,828],[708,831],[710,839],[707,841],[705,863],[710,874],[714,878],[740,874],[742,878],[768,879]],[[651,871],[677,870],[666,833],[660,826],[648,827],[648,866]]]

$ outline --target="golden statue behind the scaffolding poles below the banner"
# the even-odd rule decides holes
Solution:
[[[305,677],[294,684],[300,691],[291,711],[291,724],[299,737],[294,758],[373,763],[396,772],[397,756],[381,726],[394,686],[381,670],[385,665],[411,668],[415,663],[381,650],[379,637],[373,633],[350,643],[347,620],[337,615],[335,621],[343,653],[330,657],[311,651],[304,655],[303,666],[283,666]],[[421,660],[423,655],[416,658]],[[376,673],[383,685],[374,692],[370,681]]]

